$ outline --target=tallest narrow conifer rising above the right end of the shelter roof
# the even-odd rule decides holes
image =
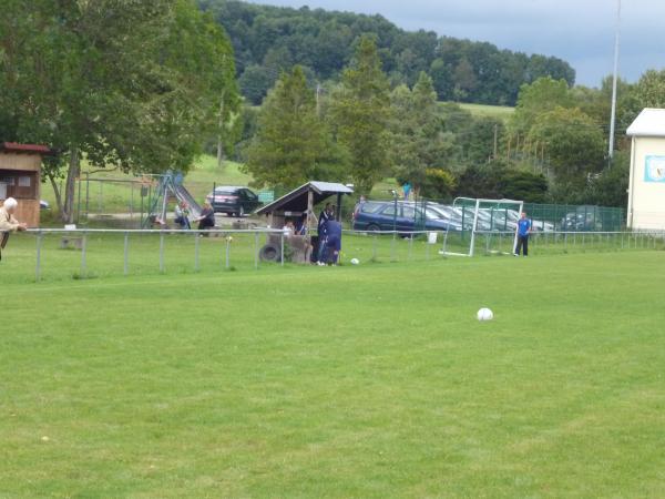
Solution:
[[[349,153],[356,190],[369,194],[389,170],[390,120],[388,78],[369,37],[360,39],[354,61],[344,71],[331,119],[339,144]]]

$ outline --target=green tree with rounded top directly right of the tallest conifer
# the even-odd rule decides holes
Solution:
[[[398,86],[391,101],[391,154],[397,179],[411,183],[417,193],[426,184],[446,191],[440,181],[448,179],[440,171],[446,170],[453,144],[452,135],[441,126],[432,79],[421,72],[412,91]],[[432,182],[428,182],[428,172]]]

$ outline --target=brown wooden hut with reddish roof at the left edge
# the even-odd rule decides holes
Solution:
[[[45,145],[0,142],[0,202],[14,197],[16,217],[29,227],[39,226],[41,163],[51,154]]]

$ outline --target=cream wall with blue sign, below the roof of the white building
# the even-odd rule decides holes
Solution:
[[[633,139],[628,227],[665,230],[665,176],[647,174],[647,162],[665,165],[665,138]]]

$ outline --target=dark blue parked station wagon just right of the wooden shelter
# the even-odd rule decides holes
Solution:
[[[413,203],[405,202],[396,204],[392,201],[367,201],[358,206],[354,217],[354,230],[356,231],[396,230],[409,233],[422,230],[423,225],[426,231],[459,230],[454,223],[442,218],[433,210],[423,211]]]

